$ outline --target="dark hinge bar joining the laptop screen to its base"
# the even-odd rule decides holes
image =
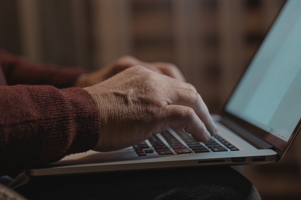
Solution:
[[[272,146],[271,144],[258,138],[257,136],[252,134],[250,131],[244,129],[242,126],[238,125],[233,120],[230,120],[227,117],[223,116],[220,123],[222,123],[228,129],[233,131],[236,135],[238,135],[241,138],[243,138],[244,140],[248,141],[250,144],[252,144],[257,149],[272,149],[272,150],[275,149],[274,146]]]

